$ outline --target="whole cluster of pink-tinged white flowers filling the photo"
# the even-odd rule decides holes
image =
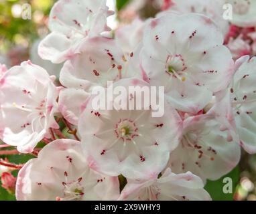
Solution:
[[[17,181],[2,177],[17,200],[210,200],[207,179],[232,171],[242,149],[256,153],[256,1],[158,3],[155,18],[110,29],[105,0],[59,0],[38,54],[64,63],[60,78],[0,64],[0,138],[36,156]],[[95,90],[120,86],[164,86],[164,114],[115,103],[147,99],[138,94],[94,108]]]

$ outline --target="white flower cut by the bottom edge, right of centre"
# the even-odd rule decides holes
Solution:
[[[166,169],[159,179],[129,181],[119,200],[129,201],[210,201],[204,183],[192,173],[176,175]]]

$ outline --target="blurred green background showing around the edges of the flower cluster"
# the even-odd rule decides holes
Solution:
[[[111,0],[110,0],[111,1]],[[121,22],[127,23],[127,14],[135,11],[127,11],[127,5],[131,0],[117,0],[116,7],[118,18]],[[135,0],[143,1],[143,0]],[[22,6],[25,3],[31,5],[31,19],[22,19]],[[48,14],[54,0],[0,0],[0,63],[7,64],[8,67],[15,66],[24,60],[29,59],[29,49],[38,38],[42,38],[48,33],[46,27]],[[153,16],[159,8],[155,7],[153,0],[145,0],[139,11],[141,17]],[[11,156],[0,156],[8,158],[11,163],[25,163],[31,155],[15,154]],[[11,172],[17,176],[17,171]],[[1,175],[1,170],[0,170]],[[230,177],[233,180],[233,193],[225,194],[222,191],[225,183],[223,179]],[[243,154],[241,163],[229,175],[218,181],[208,181],[206,190],[214,200],[256,200],[256,156]],[[7,193],[1,187],[0,200],[15,200],[15,196]]]

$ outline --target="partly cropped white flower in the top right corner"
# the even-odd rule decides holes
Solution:
[[[256,26],[255,0],[223,0],[223,3],[232,5],[231,23],[239,27]]]

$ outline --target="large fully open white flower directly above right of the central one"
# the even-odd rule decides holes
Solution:
[[[172,105],[197,114],[227,88],[234,62],[218,27],[204,15],[166,13],[145,27],[141,66],[152,86],[165,86]]]

